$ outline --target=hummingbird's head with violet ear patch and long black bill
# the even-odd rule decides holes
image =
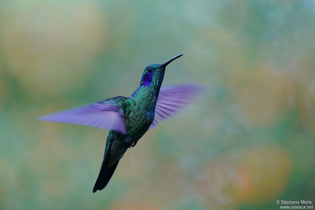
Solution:
[[[140,81],[140,86],[148,86],[148,87],[157,87],[160,88],[163,82],[163,77],[165,73],[165,67],[175,60],[176,58],[179,58],[183,54],[177,55],[174,58],[169,59],[163,64],[151,64],[148,65],[143,73],[142,78]]]

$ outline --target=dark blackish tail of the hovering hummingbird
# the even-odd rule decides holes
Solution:
[[[108,184],[109,180],[111,179],[118,162],[114,163],[112,166],[107,167],[107,163],[109,160],[109,153],[110,150],[106,152],[106,155],[104,156],[102,166],[100,167],[100,173],[99,176],[97,177],[97,180],[95,182],[93,192],[96,192],[97,190],[103,190],[106,185]]]

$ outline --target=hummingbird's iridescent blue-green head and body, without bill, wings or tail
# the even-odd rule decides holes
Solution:
[[[110,130],[107,137],[106,150],[111,148],[108,166],[119,161],[127,151],[129,145],[134,146],[146,133],[154,120],[155,106],[161,88],[165,68],[159,68],[161,64],[147,66],[142,74],[140,86],[130,97],[115,97],[123,109],[127,134]],[[152,72],[148,69],[152,68]],[[149,83],[146,83],[147,81]]]

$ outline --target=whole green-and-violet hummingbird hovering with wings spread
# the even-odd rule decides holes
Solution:
[[[155,128],[158,120],[172,117],[203,89],[194,84],[161,88],[165,67],[182,55],[163,64],[148,65],[142,73],[140,86],[130,97],[117,96],[38,118],[110,130],[93,192],[106,187],[123,154],[134,147],[149,128]]]

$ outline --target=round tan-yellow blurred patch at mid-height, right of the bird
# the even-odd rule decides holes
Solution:
[[[284,74],[272,73],[268,65],[250,71],[234,71],[229,81],[231,104],[237,104],[250,123],[266,126],[294,107],[296,88]]]

